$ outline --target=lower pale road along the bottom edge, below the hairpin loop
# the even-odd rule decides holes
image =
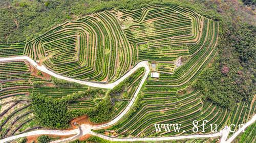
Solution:
[[[229,139],[227,139],[227,136],[229,134],[229,127],[225,127],[223,130],[217,133],[212,134],[195,134],[195,135],[181,135],[181,136],[166,136],[166,137],[145,137],[145,138],[113,138],[109,136],[105,136],[102,134],[95,133],[91,131],[91,129],[94,128],[94,126],[83,124],[81,125],[81,130],[74,129],[70,131],[62,131],[62,130],[37,130],[37,131],[31,131],[11,137],[7,137],[5,139],[0,140],[0,142],[8,142],[13,139],[17,139],[20,137],[26,137],[31,135],[40,135],[40,134],[53,134],[53,135],[72,135],[72,134],[91,134],[98,137],[101,137],[103,139],[111,140],[111,141],[161,141],[161,140],[177,140],[177,139],[191,139],[191,138],[208,138],[208,137],[222,137],[220,143],[231,143],[234,138],[236,138],[244,129],[246,129],[248,126],[253,124],[256,121],[256,115],[252,117],[252,119],[247,122],[242,128],[240,128],[237,132],[235,132]],[[75,135],[75,136],[76,136]],[[71,137],[73,138],[73,137]],[[63,141],[67,141],[67,139],[62,139]],[[54,142],[61,142],[62,140],[54,141]]]

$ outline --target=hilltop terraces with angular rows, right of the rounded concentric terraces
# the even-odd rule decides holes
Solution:
[[[173,73],[180,56],[196,54],[206,46],[207,37],[218,33],[217,22],[172,5],[134,11],[115,9],[113,13],[122,21],[129,42],[138,49],[138,61],[158,62],[158,71],[163,73]]]

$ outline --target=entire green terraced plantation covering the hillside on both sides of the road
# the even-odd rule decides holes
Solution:
[[[27,55],[39,65],[74,79],[111,83],[141,61],[148,75],[135,105],[116,125],[96,132],[112,137],[150,137],[195,134],[194,120],[225,125],[247,122],[255,114],[254,100],[228,110],[205,100],[191,88],[217,52],[218,21],[175,5],[151,5],[138,10],[112,9],[57,25],[26,42],[0,44],[0,57]],[[115,99],[115,117],[129,104],[144,71],[126,81]],[[28,95],[61,98],[87,90],[84,85],[61,87],[28,62],[0,63],[1,137],[41,128],[34,120]],[[105,90],[107,91],[107,90]],[[88,109],[104,96],[91,96],[69,104],[69,110]],[[255,99],[255,97],[253,98]],[[154,124],[182,124],[185,132],[156,133]],[[236,126],[238,127],[238,126]],[[202,130],[202,126],[199,127]]]

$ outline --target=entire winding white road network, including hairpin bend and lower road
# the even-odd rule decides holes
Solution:
[[[221,143],[230,143],[245,128],[247,128],[249,125],[253,124],[256,120],[256,115],[254,115],[249,122],[247,122],[240,130],[238,130],[236,133],[234,133],[228,140],[226,140],[227,136],[228,136],[228,133],[229,133],[229,128],[227,126],[223,130],[221,130],[220,132],[212,133],[212,134],[195,134],[195,135],[181,135],[181,136],[169,136],[169,137],[145,137],[145,138],[112,138],[112,137],[109,137],[109,136],[105,136],[105,135],[102,135],[102,134],[95,133],[91,130],[92,129],[102,129],[102,128],[114,125],[130,110],[130,108],[132,107],[133,103],[136,100],[136,97],[139,94],[140,89],[142,88],[142,86],[144,84],[144,81],[146,80],[148,74],[150,73],[150,66],[149,66],[148,62],[142,61],[142,62],[138,63],[133,69],[131,69],[129,72],[127,72],[124,76],[122,76],[121,78],[119,78],[115,82],[105,84],[105,83],[97,83],[97,82],[77,80],[77,79],[73,79],[73,78],[69,78],[69,77],[65,77],[65,76],[56,74],[56,73],[48,70],[45,66],[39,66],[35,61],[33,61],[28,56],[15,56],[15,57],[11,57],[11,58],[0,58],[0,62],[19,61],[19,60],[27,60],[38,70],[40,70],[42,72],[45,72],[49,75],[52,75],[56,78],[60,78],[60,79],[67,80],[67,81],[72,81],[72,82],[77,82],[77,83],[80,83],[80,84],[85,84],[85,85],[88,85],[88,86],[91,86],[91,87],[105,88],[105,89],[113,89],[116,85],[118,85],[125,78],[129,77],[132,73],[134,73],[137,69],[139,69],[141,67],[145,68],[145,74],[144,74],[144,76],[143,76],[143,78],[142,78],[142,80],[139,84],[139,87],[136,90],[132,100],[130,101],[130,103],[125,107],[125,109],[114,120],[112,120],[109,123],[105,123],[105,124],[102,124],[102,125],[95,125],[95,126],[83,124],[83,125],[80,126],[81,129],[74,129],[74,130],[36,130],[36,131],[31,131],[31,132],[27,132],[27,133],[23,133],[23,134],[14,135],[14,136],[11,136],[11,137],[4,138],[4,139],[0,140],[1,143],[2,142],[8,142],[8,141],[20,138],[20,137],[26,137],[26,136],[31,136],[31,135],[41,135],[41,134],[74,135],[74,136],[72,136],[68,139],[57,140],[57,141],[53,141],[53,142],[64,142],[64,141],[67,141],[69,139],[73,139],[73,138],[77,137],[78,135],[80,136],[80,135],[92,134],[92,135],[96,135],[98,137],[108,139],[108,140],[111,140],[111,141],[153,141],[153,140],[160,141],[160,140],[175,140],[175,139],[189,139],[189,138],[222,137],[221,138]]]

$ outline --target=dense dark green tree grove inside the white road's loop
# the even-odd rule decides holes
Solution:
[[[31,94],[32,109],[41,126],[48,128],[65,129],[70,126],[69,121],[75,117],[87,114],[91,121],[100,123],[111,119],[112,105],[110,98],[105,98],[97,106],[89,110],[68,110],[68,103],[90,95],[104,94],[101,90],[87,90],[74,93],[64,98],[53,99],[46,95]],[[109,115],[110,117],[107,117]]]

